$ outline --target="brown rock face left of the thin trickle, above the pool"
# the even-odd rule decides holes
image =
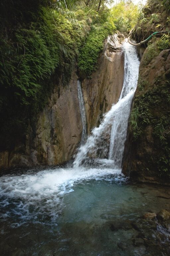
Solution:
[[[48,105],[40,113],[33,131],[28,127],[25,145],[20,142],[12,152],[1,152],[0,166],[55,165],[69,160],[81,140],[82,125],[77,95],[77,76],[63,87],[54,87]]]

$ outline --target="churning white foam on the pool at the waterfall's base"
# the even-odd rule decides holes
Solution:
[[[74,191],[73,186],[77,182],[107,179],[108,175],[112,179],[125,180],[120,170],[106,168],[105,165],[104,161],[98,168],[46,169],[0,177],[0,207],[9,207],[9,211],[0,214],[0,219],[15,216],[15,227],[29,220],[54,223],[63,207],[63,195]]]

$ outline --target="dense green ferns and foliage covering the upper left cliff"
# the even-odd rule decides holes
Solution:
[[[62,75],[63,86],[69,81],[89,33],[91,38],[97,34],[98,40],[95,40],[97,50],[89,52],[93,64],[91,59],[86,64],[88,67],[95,64],[113,22],[109,21],[103,3],[97,12],[84,2],[76,5],[79,2],[1,1],[1,149],[14,147],[21,138],[25,141],[28,124],[34,124],[34,128],[37,114],[50,97],[56,83],[54,77]]]

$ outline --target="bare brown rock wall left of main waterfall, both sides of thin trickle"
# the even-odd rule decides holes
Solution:
[[[114,48],[109,41],[105,44],[97,71],[91,79],[82,81],[88,133],[119,99],[124,77],[124,54],[120,49],[123,39],[120,35]],[[77,79],[75,71],[65,87],[58,79],[36,126],[29,125],[25,143],[18,142],[11,152],[0,152],[0,168],[56,165],[72,158],[82,133]]]

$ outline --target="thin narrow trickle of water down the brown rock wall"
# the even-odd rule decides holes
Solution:
[[[80,80],[77,80],[77,91],[78,91],[81,123],[82,123],[81,145],[83,145],[87,139],[87,119],[86,119],[86,110],[84,106],[84,99],[83,99]]]

